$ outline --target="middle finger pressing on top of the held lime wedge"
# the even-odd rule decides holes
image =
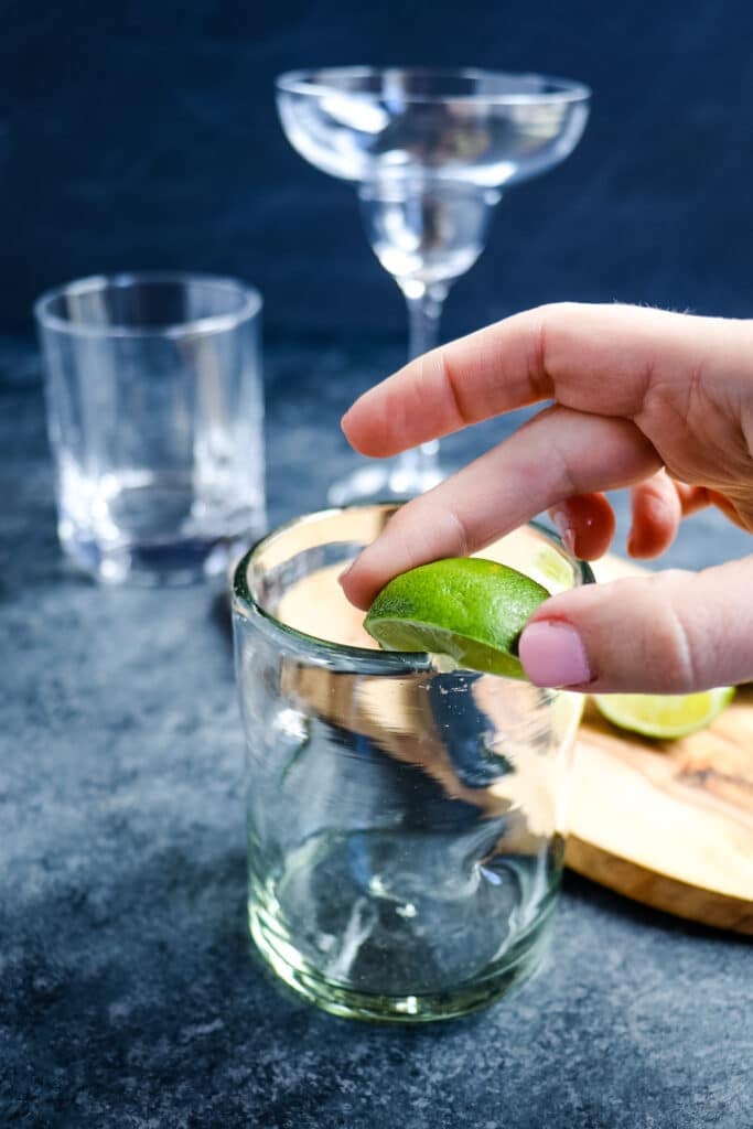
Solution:
[[[630,485],[658,456],[628,420],[564,408],[542,412],[509,439],[403,506],[341,577],[368,607],[391,577],[443,557],[464,557],[573,495]]]

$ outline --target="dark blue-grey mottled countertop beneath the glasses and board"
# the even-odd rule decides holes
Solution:
[[[399,356],[268,350],[271,522],[323,501],[339,412]],[[671,560],[746,548],[701,515]],[[0,584],[2,1129],[753,1126],[750,944],[572,877],[545,970],[473,1018],[370,1027],[268,979],[224,604],[67,569],[23,342],[0,349]]]

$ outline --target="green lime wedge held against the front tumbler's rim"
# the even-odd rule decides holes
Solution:
[[[506,564],[450,557],[391,580],[364,627],[385,650],[449,655],[457,666],[524,679],[518,638],[548,598],[546,588]]]

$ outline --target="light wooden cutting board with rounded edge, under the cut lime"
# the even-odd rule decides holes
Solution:
[[[599,579],[636,571],[607,560]],[[566,863],[620,894],[753,936],[753,686],[707,729],[656,742],[586,707]]]

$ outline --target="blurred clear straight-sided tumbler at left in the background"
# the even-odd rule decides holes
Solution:
[[[119,274],[36,303],[59,533],[104,581],[222,572],[264,528],[262,300]]]

